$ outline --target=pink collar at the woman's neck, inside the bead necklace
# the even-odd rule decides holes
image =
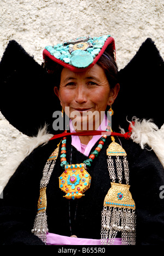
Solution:
[[[104,115],[104,118],[102,120],[101,125],[98,127],[97,131],[105,131],[108,126],[108,119],[107,116]],[[75,132],[72,121],[70,119],[69,123],[70,131]],[[95,135],[92,137],[92,139],[89,141],[89,143],[86,145],[86,147],[83,146],[81,147],[81,142],[79,136],[74,136],[72,135],[72,146],[74,146],[79,152],[83,153],[86,156],[89,156],[91,148],[95,145],[95,143],[102,137],[102,135]]]

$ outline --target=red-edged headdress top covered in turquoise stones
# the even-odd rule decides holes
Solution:
[[[104,51],[115,59],[114,38],[108,35],[100,37],[78,37],[54,46],[45,46],[43,59],[48,56],[52,61],[74,72],[91,68]]]

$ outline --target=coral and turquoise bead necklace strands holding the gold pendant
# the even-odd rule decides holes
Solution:
[[[107,126],[107,129],[106,131],[112,131],[111,129],[111,126],[110,126],[110,121],[108,123],[108,126]],[[98,142],[98,145],[97,147],[95,148],[95,150],[93,152],[91,152],[90,156],[89,156],[89,159],[87,160],[84,160],[84,164],[86,164],[86,166],[91,166],[91,162],[93,161],[93,159],[95,159],[95,156],[98,156],[98,153],[101,151],[101,149],[103,148],[103,144],[104,142],[106,142],[106,138],[107,138],[107,135],[103,135],[100,139],[99,139],[99,142]],[[66,159],[66,137],[63,137],[62,139],[62,146],[61,146],[61,155],[60,155],[60,158],[61,158],[61,167],[63,169],[65,169],[65,166],[66,165],[69,165],[69,163],[67,162],[67,159]]]

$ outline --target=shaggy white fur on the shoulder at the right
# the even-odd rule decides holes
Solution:
[[[153,149],[164,167],[164,124],[159,129],[152,120],[143,119],[140,121],[137,118],[133,118],[133,121],[135,122],[135,125],[132,126],[131,135],[133,142],[140,144],[142,149],[146,145]]]

